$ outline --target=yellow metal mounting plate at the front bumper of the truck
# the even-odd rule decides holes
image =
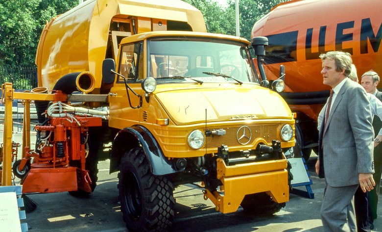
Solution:
[[[224,193],[206,189],[204,199],[210,199],[222,213],[235,212],[244,196],[253,193],[267,192],[277,203],[289,200],[286,159],[226,166],[217,158],[217,179]]]

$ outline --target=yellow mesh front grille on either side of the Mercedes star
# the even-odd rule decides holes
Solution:
[[[277,139],[278,126],[278,124],[248,126],[252,132],[252,138],[248,144],[252,144],[257,138],[263,138],[267,143],[272,143],[272,140]],[[223,136],[206,136],[204,148],[217,148],[222,144],[228,147],[243,146],[239,144],[236,138],[236,133],[240,127],[241,126],[232,128],[207,128],[207,130],[225,129],[226,134]],[[204,129],[204,132],[206,132],[206,129]]]

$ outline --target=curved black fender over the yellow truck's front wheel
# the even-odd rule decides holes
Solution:
[[[165,157],[152,133],[136,125],[119,130],[114,138],[110,154],[110,173],[119,171],[121,157],[135,147],[142,147],[152,174],[162,176],[177,172],[175,165]]]

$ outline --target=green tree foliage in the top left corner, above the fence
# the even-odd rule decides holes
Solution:
[[[33,65],[46,22],[77,4],[78,0],[0,1],[0,63]]]

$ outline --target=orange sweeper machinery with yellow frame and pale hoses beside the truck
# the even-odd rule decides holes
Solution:
[[[5,83],[2,85],[2,92],[6,93],[6,97],[2,99],[6,106],[13,99],[24,99],[27,103],[25,108],[29,108],[31,99],[52,100],[46,112],[46,120],[35,127],[35,149],[29,149],[30,143],[26,141],[30,137],[29,131],[23,131],[23,158],[14,167],[15,174],[22,178],[23,193],[93,192],[95,183],[89,177],[86,164],[88,160],[94,159],[88,153],[89,127],[102,125],[101,117],[92,116],[97,114],[96,110],[62,103],[68,101],[68,95],[61,91],[53,94],[16,93],[11,83]],[[29,128],[27,118],[24,120],[24,128]],[[4,130],[4,157],[10,159],[10,151],[6,150],[12,148],[9,143],[12,135],[12,110],[6,110]],[[3,162],[2,185],[10,185],[10,163],[10,160]]]

